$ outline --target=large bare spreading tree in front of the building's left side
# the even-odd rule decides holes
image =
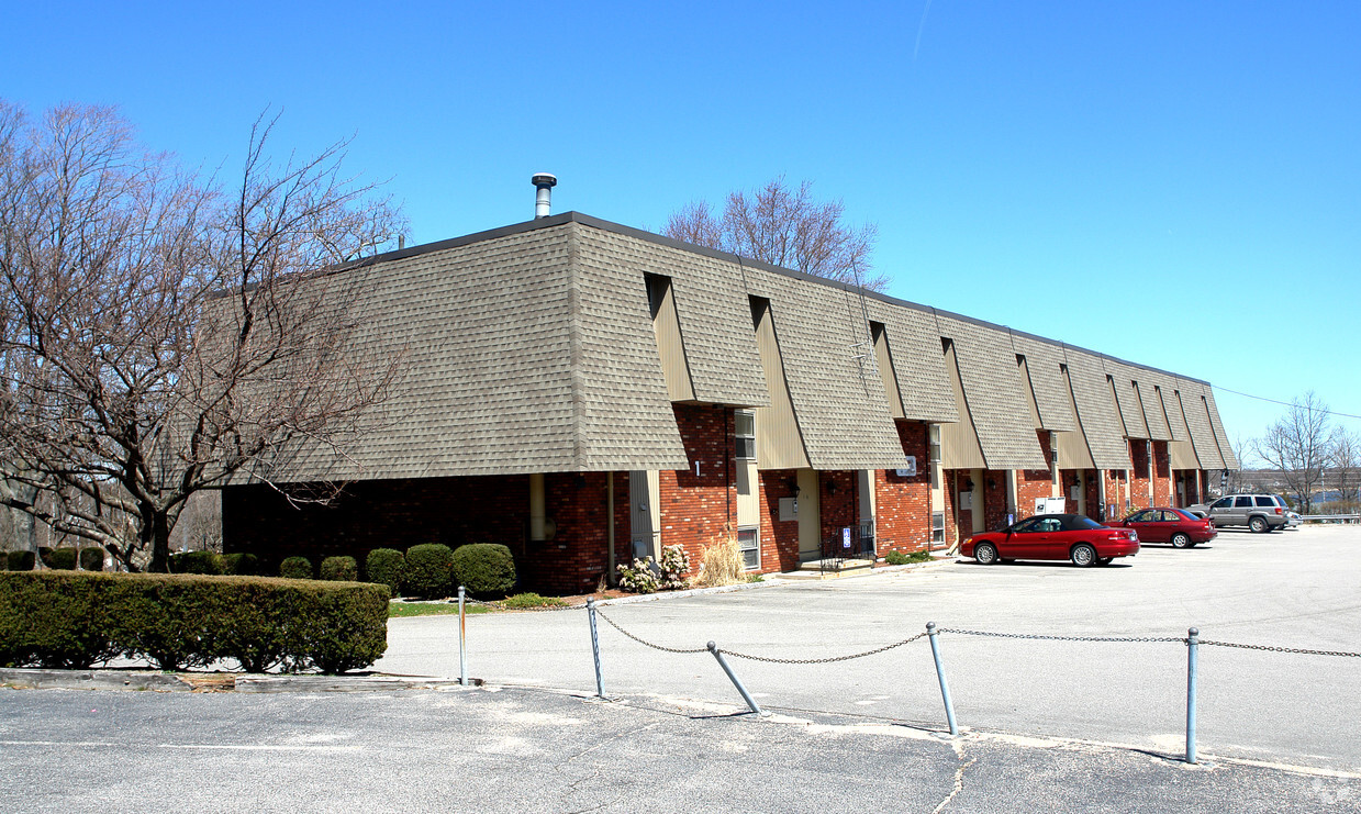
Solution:
[[[48,498],[0,505],[165,570],[192,494],[363,430],[400,358],[346,353],[361,275],[333,268],[399,215],[343,142],[271,166],[272,124],[225,192],[112,109],[0,103],[0,476]]]

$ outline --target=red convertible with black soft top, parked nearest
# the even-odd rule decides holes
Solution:
[[[1139,535],[1111,528],[1083,515],[1036,515],[964,540],[960,553],[979,565],[1007,559],[1071,559],[1072,565],[1109,565],[1139,553]]]

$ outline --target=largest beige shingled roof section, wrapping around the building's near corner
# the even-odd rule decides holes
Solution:
[[[370,417],[378,432],[343,455],[302,448],[271,476],[686,468],[642,272],[583,259],[581,229],[558,219],[340,272],[367,283],[357,353],[404,348],[404,377]]]

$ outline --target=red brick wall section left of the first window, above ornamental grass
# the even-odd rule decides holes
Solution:
[[[674,404],[676,427],[690,466],[661,471],[661,544],[685,547],[698,572],[704,547],[734,528],[738,519],[736,440],[732,410]],[[700,464],[700,475],[694,464]],[[762,558],[764,559],[764,558]]]

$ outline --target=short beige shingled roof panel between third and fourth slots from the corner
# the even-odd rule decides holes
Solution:
[[[954,392],[940,353],[935,313],[908,304],[866,298],[870,319],[883,324],[893,373],[902,397],[902,415],[912,421],[960,421]]]

